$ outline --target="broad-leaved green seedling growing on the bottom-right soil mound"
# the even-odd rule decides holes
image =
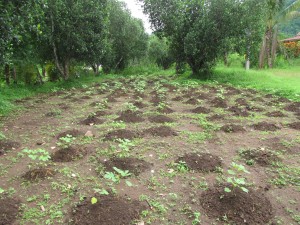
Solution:
[[[225,192],[233,192],[236,188],[239,188],[246,193],[249,192],[249,190],[246,188],[246,178],[243,177],[244,174],[249,173],[249,171],[246,170],[243,165],[233,162],[231,163],[230,169],[227,170],[227,173],[228,177],[225,178],[225,181],[230,184],[230,187],[225,187]]]

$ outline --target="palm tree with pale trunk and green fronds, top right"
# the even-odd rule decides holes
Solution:
[[[278,45],[278,25],[285,20],[299,16],[300,0],[284,5],[285,0],[267,0],[266,29],[259,55],[259,68],[265,65],[267,58],[268,67],[272,68],[276,57]]]

